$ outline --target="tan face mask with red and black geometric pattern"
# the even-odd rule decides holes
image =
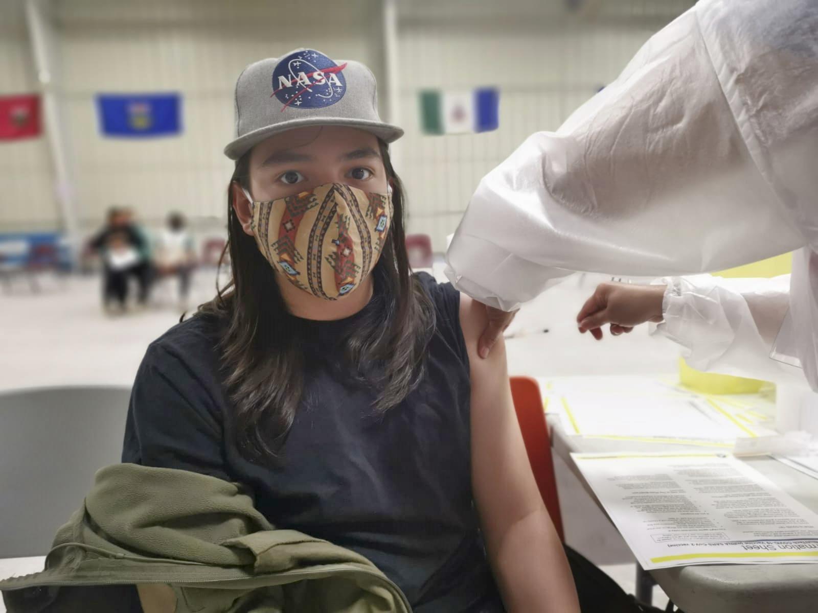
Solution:
[[[250,227],[267,262],[297,288],[326,300],[343,298],[375,267],[393,214],[391,193],[344,183],[253,202],[252,211]]]

